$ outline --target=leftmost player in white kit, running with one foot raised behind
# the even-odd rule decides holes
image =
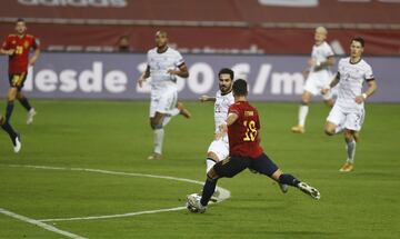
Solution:
[[[138,79],[139,87],[151,77],[150,126],[154,132],[154,150],[148,159],[161,159],[164,127],[177,114],[190,118],[190,112],[178,102],[177,76],[188,78],[182,56],[168,47],[167,32],[156,33],[156,48],[148,51],[148,66]]]

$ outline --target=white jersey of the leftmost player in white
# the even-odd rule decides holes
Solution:
[[[168,70],[177,70],[184,60],[179,51],[168,48],[162,53],[153,48],[147,53],[148,66],[150,68],[152,89],[162,89],[164,87],[176,86],[177,77],[168,73]]]

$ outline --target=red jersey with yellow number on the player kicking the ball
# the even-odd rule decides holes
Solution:
[[[229,107],[228,114],[239,118],[228,127],[229,155],[258,158],[263,152],[260,146],[260,119],[254,107],[248,101],[238,101]]]

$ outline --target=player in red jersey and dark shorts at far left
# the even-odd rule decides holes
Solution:
[[[33,116],[37,113],[27,99],[21,92],[23,83],[27,79],[28,67],[33,66],[40,54],[38,40],[27,34],[27,24],[23,19],[18,19],[16,22],[16,34],[9,34],[2,47],[0,53],[9,56],[9,81],[10,89],[8,91],[7,108],[6,108],[6,120],[10,121],[13,102],[16,98],[20,103],[28,110],[27,123],[33,122]],[[29,59],[30,50],[33,49],[34,53]]]

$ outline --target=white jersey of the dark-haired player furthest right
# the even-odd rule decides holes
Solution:
[[[344,108],[360,109],[363,103],[357,103],[356,97],[361,96],[362,84],[373,80],[372,68],[364,60],[351,63],[350,58],[343,58],[338,64],[339,87],[337,103]]]

